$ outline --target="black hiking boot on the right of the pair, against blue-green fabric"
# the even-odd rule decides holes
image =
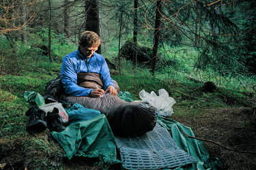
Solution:
[[[59,109],[54,107],[53,112],[47,112],[46,122],[48,129],[56,132],[61,132],[66,129],[66,126],[63,125],[61,116],[59,116]]]

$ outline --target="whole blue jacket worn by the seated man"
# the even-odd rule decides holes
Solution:
[[[98,73],[104,84],[104,90],[110,85],[115,87],[109,67],[102,55],[94,52],[94,56],[86,58],[79,50],[76,50],[66,55],[61,65],[61,82],[67,95],[89,96],[92,89],[77,85],[77,73],[81,72]]]

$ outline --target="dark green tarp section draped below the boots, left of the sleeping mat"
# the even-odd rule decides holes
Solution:
[[[67,126],[65,131],[51,134],[69,159],[73,156],[98,157],[108,165],[120,163],[117,160],[115,137],[104,114],[92,120],[76,122]]]

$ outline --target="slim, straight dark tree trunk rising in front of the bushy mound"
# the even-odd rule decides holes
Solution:
[[[133,64],[137,65],[137,34],[138,34],[138,0],[134,0],[134,20],[133,20],[133,42],[134,42],[134,54],[133,54]]]

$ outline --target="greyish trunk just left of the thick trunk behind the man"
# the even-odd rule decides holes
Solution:
[[[70,1],[64,1],[64,33],[70,40]]]

